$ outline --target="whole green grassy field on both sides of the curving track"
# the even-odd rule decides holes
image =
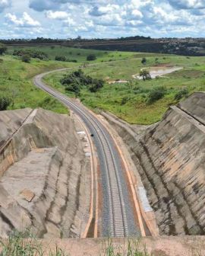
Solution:
[[[181,90],[187,91],[188,94],[205,90],[205,59],[203,57],[108,52],[64,46],[27,46],[24,48],[41,50],[48,54],[49,60],[32,59],[30,63],[24,63],[21,59],[11,56],[14,49],[22,49],[22,47],[8,47],[7,54],[9,55],[2,56],[3,61],[0,62],[2,70],[0,89],[2,94],[8,95],[12,101],[14,98],[14,105],[12,102],[10,109],[44,107],[64,113],[65,107],[32,84],[33,75],[48,69],[64,67],[79,69],[80,66],[87,75],[93,78],[103,78],[106,84],[96,93],[91,93],[87,88],[81,89],[80,100],[93,110],[109,110],[129,123],[155,123],[162,118],[169,105],[177,104],[181,100],[175,99],[175,95]],[[87,55],[90,53],[94,53],[97,59],[87,62]],[[68,59],[76,59],[77,62],[57,62],[54,61],[55,56],[66,56]],[[147,59],[146,65],[141,63],[143,57]],[[89,66],[89,63],[96,63],[96,65]],[[133,75],[139,73],[140,69],[149,69],[152,66],[181,66],[184,69],[166,75],[164,78],[145,82],[133,78]],[[65,92],[65,87],[59,82],[63,74],[65,72],[53,73],[45,80],[49,85]],[[115,83],[118,79],[128,82]],[[158,87],[165,88],[166,94],[153,104],[147,104],[150,91]],[[74,97],[73,94],[69,96]]]

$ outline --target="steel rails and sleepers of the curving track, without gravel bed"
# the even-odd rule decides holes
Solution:
[[[115,162],[115,156],[113,155],[112,146],[109,142],[111,137],[109,136],[106,128],[101,123],[99,123],[99,121],[96,120],[96,118],[93,117],[93,115],[90,114],[88,110],[85,110],[84,107],[78,107],[77,104],[74,104],[74,102],[68,100],[68,98],[65,98],[63,94],[58,93],[52,88],[47,87],[41,81],[43,76],[48,73],[50,72],[36,75],[36,77],[33,78],[33,82],[37,87],[42,88],[44,91],[52,94],[52,96],[54,96],[55,98],[58,98],[58,100],[60,100],[67,107],[71,107],[71,109],[74,110],[75,113],[83,116],[86,119],[86,123],[90,123],[90,126],[93,127],[93,130],[95,131],[96,136],[100,142],[101,149],[103,150],[103,162],[106,167],[106,178],[108,183],[109,196],[109,232],[111,236],[115,237],[128,236],[128,220],[125,210],[125,200],[123,198],[121,181],[118,174],[118,166]],[[90,129],[89,126],[88,128]]]

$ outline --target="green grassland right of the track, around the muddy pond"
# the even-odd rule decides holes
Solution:
[[[175,100],[175,94],[181,89],[187,88],[188,94],[194,91],[205,91],[205,59],[203,57],[187,58],[185,56],[148,53],[139,56],[136,55],[135,59],[103,62],[99,66],[84,68],[84,72],[95,78],[103,78],[106,81],[125,79],[129,82],[111,85],[106,83],[96,93],[91,93],[84,88],[80,91],[80,100],[93,110],[110,111],[128,123],[151,124],[161,120],[162,115],[170,105],[178,103]],[[147,65],[141,64],[141,56],[146,56]],[[137,74],[140,69],[159,64],[182,66],[184,69],[166,75],[165,78],[152,79],[146,82],[132,78],[132,75]],[[65,88],[59,82],[64,73],[48,75],[45,81],[59,91],[65,92]],[[165,97],[153,104],[147,104],[150,91],[159,86],[166,88]],[[73,97],[72,94],[68,95]]]

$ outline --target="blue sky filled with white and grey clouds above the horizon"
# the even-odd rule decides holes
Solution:
[[[0,38],[205,37],[205,0],[0,0]]]

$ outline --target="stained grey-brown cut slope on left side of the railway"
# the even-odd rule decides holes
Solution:
[[[77,237],[90,208],[90,158],[74,119],[46,110],[0,112],[0,236]],[[7,142],[7,144],[5,144]]]

